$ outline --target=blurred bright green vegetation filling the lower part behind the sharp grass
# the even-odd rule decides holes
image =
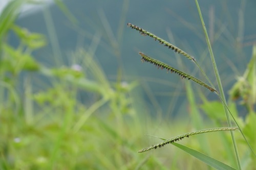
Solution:
[[[65,12],[67,9],[58,3]],[[124,1],[116,37],[111,33],[104,13],[100,16],[115,51],[113,58],[119,62],[119,45],[123,29],[127,29],[123,25],[127,10],[125,3],[127,1]],[[0,169],[212,169],[172,144],[146,153],[137,152],[162,142],[163,138],[227,126],[221,101],[207,100],[201,90],[195,90],[192,83],[182,80],[186,85],[189,104],[184,114],[188,118],[178,116],[168,119],[161,114],[151,116],[147,113],[150,112],[148,104],[141,95],[139,78],[122,81],[125,75],[121,72],[120,64],[117,80],[110,81],[94,60],[101,41],[97,35],[92,38],[91,46],[77,48],[70,54],[72,64],[81,63],[81,70],[59,66],[61,55],[58,42],[52,37],[50,41],[58,61],[56,66],[48,68],[32,56],[33,51],[46,44],[44,35],[26,34],[26,30],[14,25],[16,10],[20,5],[16,1],[9,3],[0,17],[0,93],[3,94],[0,96]],[[73,18],[69,12],[66,14]],[[49,32],[54,31],[51,16],[45,14],[45,18]],[[75,23],[74,18],[72,21]],[[17,48],[4,41],[10,30],[20,38]],[[256,96],[255,49],[253,47],[245,74],[237,82],[239,85],[235,84],[230,90],[227,101],[229,110],[253,151],[256,150],[256,113],[253,110]],[[25,76],[21,83],[18,79],[22,73]],[[38,80],[37,74],[50,83]],[[19,90],[20,86],[24,90]],[[201,104],[196,99],[198,96]],[[241,98],[247,108],[245,120],[238,116],[237,104],[231,100],[237,98]],[[239,131],[234,131],[233,135],[237,141],[241,168],[253,169],[255,156]],[[201,152],[237,168],[228,132],[194,135],[174,144],[187,152]]]

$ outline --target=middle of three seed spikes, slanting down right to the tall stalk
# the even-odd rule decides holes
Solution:
[[[197,79],[197,78],[195,78],[195,77],[193,77],[193,76],[190,76],[190,75],[188,75],[188,74],[186,74],[185,72],[183,72],[183,71],[180,71],[180,70],[178,70],[178,69],[176,69],[176,68],[174,68],[174,67],[172,67],[172,66],[169,66],[169,65],[167,65],[167,64],[165,64],[165,63],[163,63],[163,62],[161,62],[161,61],[158,61],[158,60],[156,60],[156,59],[153,59],[153,58],[151,58],[151,57],[148,57],[148,56],[146,56],[145,54],[143,54],[143,53],[141,53],[141,52],[139,52],[139,55],[141,56],[141,61],[142,62],[149,62],[149,63],[151,63],[151,64],[154,64],[154,65],[156,65],[158,68],[161,68],[161,69],[166,69],[167,70],[167,72],[168,71],[170,71],[171,73],[172,72],[174,72],[174,73],[176,73],[176,74],[178,74],[182,79],[184,78],[187,78],[188,80],[193,80],[194,82],[196,82],[196,83],[198,83],[198,84],[200,84],[201,86],[204,86],[204,87],[206,87],[207,89],[209,89],[211,92],[217,92],[214,88],[212,88],[212,87],[210,87],[209,85],[207,85],[206,83],[204,83],[204,82],[202,82],[201,80],[199,80],[199,79]]]

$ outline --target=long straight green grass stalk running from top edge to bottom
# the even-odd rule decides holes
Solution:
[[[215,76],[216,76],[216,79],[217,79],[217,83],[218,83],[218,87],[219,87],[219,91],[220,91],[220,96],[223,99],[222,102],[223,102],[223,107],[224,107],[224,110],[225,110],[225,113],[226,113],[226,117],[227,117],[227,123],[228,123],[228,126],[231,127],[232,126],[231,125],[231,120],[230,120],[230,117],[229,117],[229,114],[228,114],[228,110],[225,107],[226,99],[225,99],[223,87],[222,87],[222,84],[221,84],[221,79],[220,79],[219,71],[218,71],[218,68],[217,68],[217,65],[216,65],[216,62],[215,62],[214,53],[212,52],[212,48],[211,48],[211,44],[210,44],[210,39],[208,37],[208,33],[207,33],[207,30],[206,30],[206,27],[205,27],[205,24],[204,24],[203,16],[202,16],[202,13],[201,13],[198,1],[195,0],[195,2],[196,2],[198,13],[200,15],[200,19],[201,19],[201,22],[202,22],[202,26],[203,26],[206,42],[207,42],[207,45],[208,45],[208,50],[209,50],[209,53],[210,53],[211,63],[212,63],[212,66],[214,67],[214,72],[215,72]],[[231,133],[231,137],[232,137],[234,151],[236,153],[238,167],[239,167],[239,169],[242,169],[241,168],[240,159],[239,159],[239,153],[238,153],[238,149],[237,149],[236,139],[234,138],[233,132],[230,131],[230,133]]]

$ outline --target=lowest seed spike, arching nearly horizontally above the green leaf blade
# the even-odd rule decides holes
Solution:
[[[173,142],[183,139],[184,137],[189,137],[189,136],[196,135],[196,134],[217,132],[217,131],[233,131],[233,130],[237,130],[237,129],[238,129],[237,127],[224,127],[224,128],[212,128],[212,129],[205,129],[205,130],[200,130],[200,131],[196,131],[196,132],[185,133],[183,135],[179,135],[179,136],[164,140],[161,143],[152,145],[151,147],[142,149],[138,152],[142,153],[142,152],[150,151],[152,149],[161,148],[161,147],[164,147],[165,144],[173,143]]]

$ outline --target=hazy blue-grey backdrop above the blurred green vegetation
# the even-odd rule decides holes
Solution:
[[[205,79],[185,57],[175,56],[173,51],[159,45],[150,37],[143,37],[139,32],[127,28],[127,22],[131,22],[195,56],[206,74],[211,80],[215,80],[194,1],[64,2],[75,19],[68,18],[53,4],[36,10],[35,7],[27,8],[27,13],[23,13],[17,20],[19,26],[48,36],[48,45],[34,53],[34,57],[45,65],[70,66],[73,61],[69,56],[70,52],[79,47],[88,49],[95,38],[99,38],[95,59],[101,64],[108,78],[115,81],[118,70],[122,70],[123,81],[140,81],[142,88],[137,90],[148,101],[149,106],[175,115],[182,103],[186,102],[184,80],[180,80],[177,75],[157,70],[151,64],[141,63],[138,52],[190,72],[204,81]],[[234,75],[243,73],[251,57],[251,46],[256,40],[256,1],[199,1],[199,4],[212,41],[224,90],[227,91],[236,81]],[[32,10],[37,12],[28,13]],[[52,21],[51,28],[46,27],[46,21]],[[55,30],[53,35],[49,34],[51,29]],[[51,43],[52,38],[57,38],[56,44]],[[13,45],[17,44],[15,36],[11,35],[9,40]],[[54,55],[62,56],[63,61],[54,63]],[[177,63],[176,57],[182,59],[182,67]],[[217,86],[215,81],[214,83]],[[193,85],[195,89],[201,88],[203,92],[210,93],[195,83]],[[208,97],[215,96],[209,94]],[[174,98],[179,106],[172,106]]]

